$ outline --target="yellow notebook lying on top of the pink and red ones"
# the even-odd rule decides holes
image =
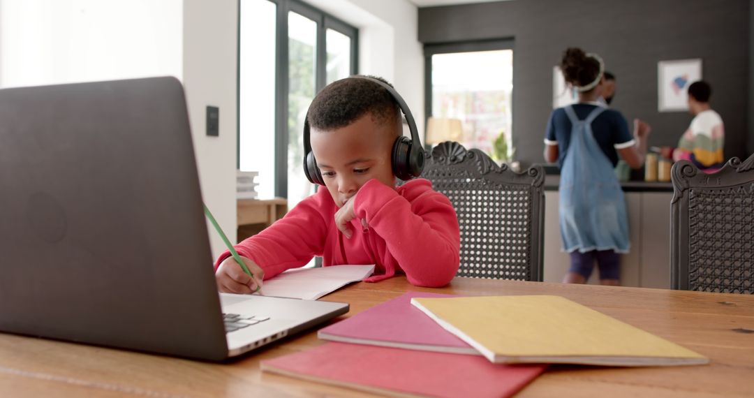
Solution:
[[[412,298],[493,363],[671,366],[705,357],[556,295]]]

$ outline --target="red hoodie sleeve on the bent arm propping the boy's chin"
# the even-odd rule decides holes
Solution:
[[[385,240],[410,283],[440,287],[458,271],[461,239],[452,204],[431,186],[415,180],[402,195],[372,179],[360,188],[354,212]]]

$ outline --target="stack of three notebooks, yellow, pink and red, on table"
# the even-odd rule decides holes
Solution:
[[[392,396],[511,396],[552,363],[677,366],[705,357],[567,298],[407,292],[327,326],[262,370]]]

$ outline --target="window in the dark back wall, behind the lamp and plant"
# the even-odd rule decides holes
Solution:
[[[461,120],[461,144],[497,160],[513,149],[511,41],[425,46],[429,116]]]

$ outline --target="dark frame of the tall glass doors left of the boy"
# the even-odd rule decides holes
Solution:
[[[236,167],[241,167],[241,2],[238,0],[238,40],[236,60]],[[274,123],[274,196],[288,197],[288,13],[290,11],[317,23],[317,55],[315,91],[325,87],[326,32],[333,29],[351,38],[351,75],[358,73],[359,30],[318,8],[299,0],[253,0],[272,2],[276,8],[275,23],[275,123]]]

